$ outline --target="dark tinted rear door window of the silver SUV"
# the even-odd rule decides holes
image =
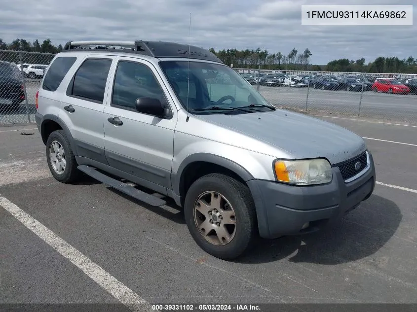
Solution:
[[[70,96],[103,103],[111,59],[87,59],[77,70],[70,84]]]

